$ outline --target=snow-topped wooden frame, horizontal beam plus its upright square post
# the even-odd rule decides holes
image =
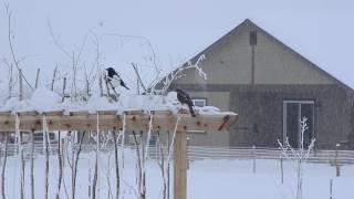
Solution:
[[[143,111],[125,112],[125,129],[127,132],[147,132],[150,115]],[[175,129],[177,114],[169,111],[152,112],[154,130]],[[41,130],[45,115],[50,130],[96,130],[97,121],[100,130],[123,128],[123,115],[116,111],[97,112],[21,112],[18,113],[21,132]],[[188,130],[227,130],[235,123],[238,115],[235,113],[199,114],[191,117],[189,113],[179,114],[179,121],[174,143],[174,198],[187,198],[187,132]],[[0,132],[13,132],[15,115],[10,112],[0,112]]]

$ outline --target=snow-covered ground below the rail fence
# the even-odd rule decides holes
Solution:
[[[122,197],[137,198],[136,158],[135,151],[126,149],[124,168],[121,168]],[[94,153],[82,154],[79,161],[76,198],[90,198],[94,172]],[[122,160],[122,159],[121,159]],[[65,158],[64,187],[62,198],[71,198],[71,169]],[[37,156],[34,167],[35,198],[44,198],[44,157]],[[196,160],[190,163],[188,170],[188,198],[216,199],[292,199],[295,198],[295,169],[291,161],[284,161],[284,182],[281,184],[280,161],[257,160],[253,174],[252,160]],[[303,199],[330,198],[330,179],[333,179],[333,199],[351,199],[353,197],[354,166],[343,166],[341,176],[335,177],[335,167],[324,164],[308,164],[304,167]],[[173,168],[171,168],[173,171]],[[58,185],[58,157],[50,159],[50,197],[55,198]],[[173,193],[173,172],[170,192]],[[98,164],[98,197],[114,198],[115,170],[114,153],[100,153]],[[146,166],[147,198],[162,198],[163,180],[160,169],[154,159]],[[110,182],[107,181],[110,179]],[[108,185],[110,184],[110,185]],[[110,190],[111,187],[111,190]],[[25,198],[30,198],[30,161],[25,163]],[[65,193],[66,190],[66,193]],[[18,158],[9,157],[6,171],[7,198],[20,198],[20,163]],[[173,195],[171,195],[173,196]],[[173,197],[170,197],[173,198]]]

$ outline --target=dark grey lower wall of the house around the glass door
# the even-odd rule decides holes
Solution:
[[[178,86],[190,91],[192,97],[197,96],[200,87],[198,84]],[[216,91],[229,92],[229,111],[238,113],[240,117],[229,134],[194,135],[194,145],[278,147],[278,139],[283,139],[283,101],[290,100],[314,101],[317,148],[334,148],[335,144],[348,140],[353,143],[353,96],[341,86],[214,84],[204,88],[202,94],[211,106],[217,106],[218,100],[225,97],[215,95]],[[209,92],[211,95],[208,95]]]

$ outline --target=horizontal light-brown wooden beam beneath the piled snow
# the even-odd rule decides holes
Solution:
[[[116,112],[98,112],[100,129],[122,129],[123,115]],[[149,115],[142,111],[126,112],[126,130],[146,132],[148,130]],[[177,115],[168,112],[153,112],[154,129],[160,132],[170,130],[176,124]],[[88,112],[71,112],[69,115],[62,111],[38,113],[18,113],[20,129],[22,132],[42,130],[43,115],[46,117],[48,127],[51,130],[90,130],[96,128],[96,114]],[[227,119],[226,119],[227,118]],[[180,114],[178,130],[227,130],[238,119],[233,113],[218,113],[215,115],[205,114],[191,117],[190,114]],[[13,132],[15,116],[10,112],[0,113],[0,132]]]

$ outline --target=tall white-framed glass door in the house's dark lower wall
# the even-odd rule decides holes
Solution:
[[[306,117],[308,130],[304,132],[304,147],[310,145],[314,136],[314,102],[313,101],[284,101],[283,102],[283,142],[288,137],[289,144],[299,148],[301,143],[300,121]]]

